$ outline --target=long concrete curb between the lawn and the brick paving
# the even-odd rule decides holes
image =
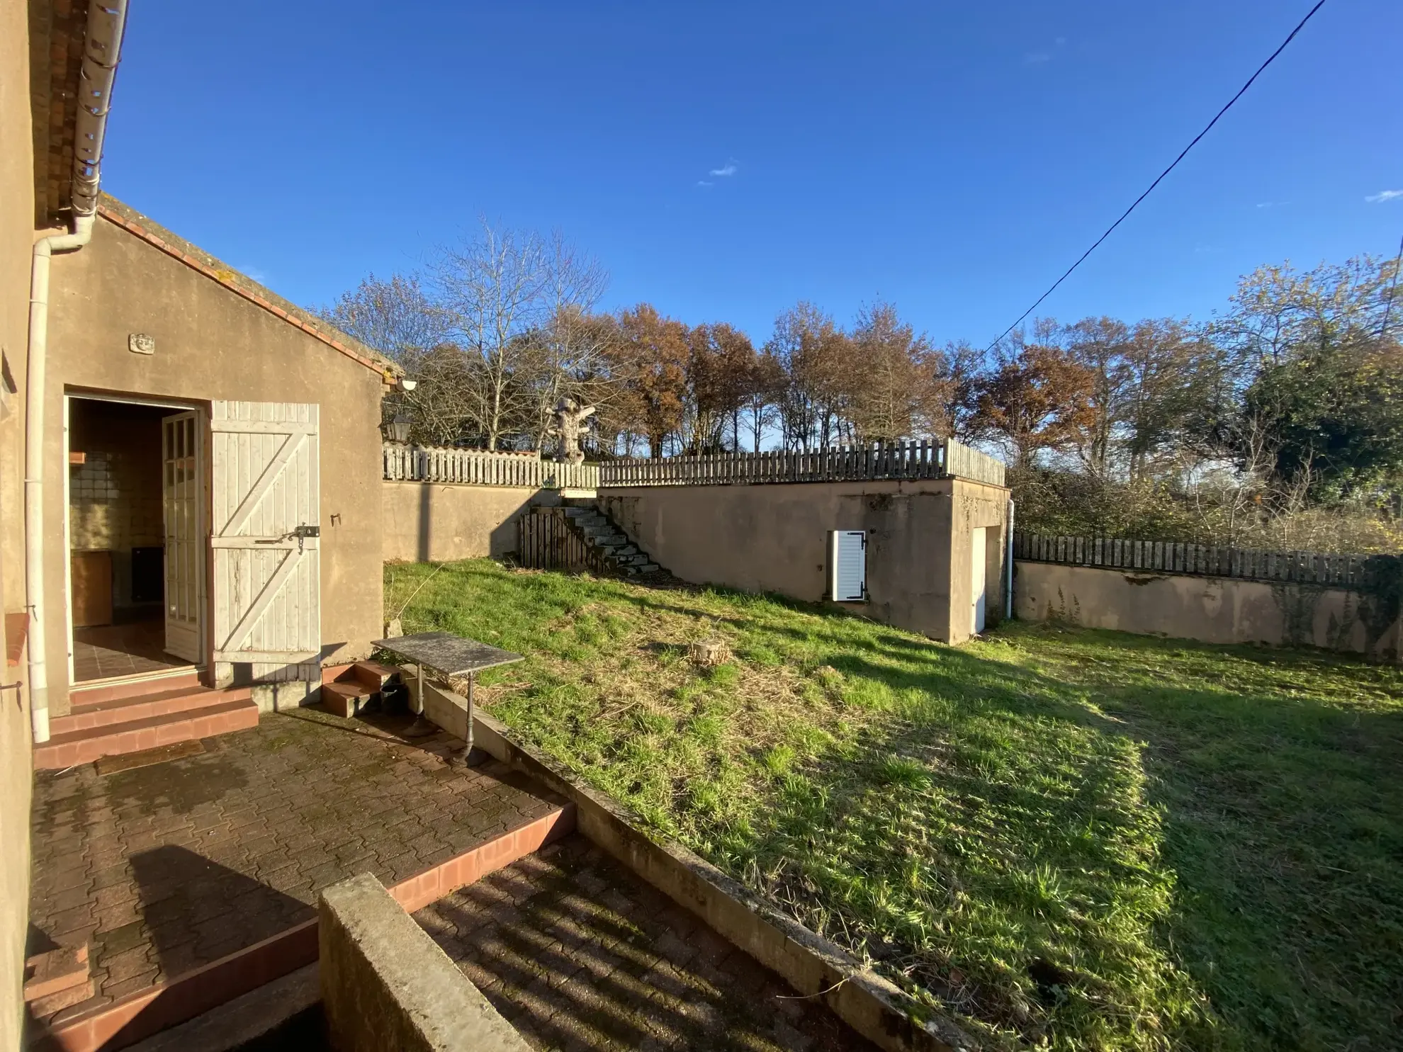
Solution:
[[[702,917],[723,938],[783,976],[801,994],[822,999],[868,1041],[888,1052],[969,1052],[978,1048],[951,1020],[933,1014],[852,954],[784,916],[700,856],[680,844],[647,837],[626,808],[582,785],[563,764],[513,741],[499,720],[477,710],[473,722],[478,748],[575,805],[578,832]]]

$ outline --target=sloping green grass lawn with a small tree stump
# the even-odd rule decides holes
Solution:
[[[480,692],[525,741],[991,1045],[1403,1042],[1403,669],[487,560],[411,593],[528,655]]]

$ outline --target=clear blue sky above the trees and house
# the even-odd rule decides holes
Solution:
[[[598,255],[609,307],[759,342],[881,296],[988,342],[1308,8],[133,0],[104,187],[307,306],[485,215]],[[1040,313],[1397,251],[1399,41],[1396,0],[1329,0]]]

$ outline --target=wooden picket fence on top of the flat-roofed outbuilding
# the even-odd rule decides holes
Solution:
[[[599,485],[756,485],[840,483],[870,478],[969,478],[1005,484],[1005,466],[954,440],[898,442],[821,449],[811,453],[714,453],[706,456],[607,460]]]

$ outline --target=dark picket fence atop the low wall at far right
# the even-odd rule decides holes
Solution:
[[[1268,551],[1160,540],[1052,537],[1014,532],[1013,558],[1156,574],[1362,588],[1372,579],[1371,561],[1379,557],[1337,555],[1324,551]]]

